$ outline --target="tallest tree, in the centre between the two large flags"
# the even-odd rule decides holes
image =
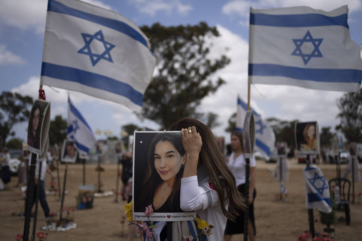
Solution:
[[[224,82],[212,81],[214,73],[230,59],[208,59],[210,39],[219,36],[216,27],[207,23],[187,26],[141,27],[150,38],[151,49],[157,59],[156,75],[143,96],[142,117],[168,129],[182,117],[198,116],[196,109],[201,100],[214,93]]]

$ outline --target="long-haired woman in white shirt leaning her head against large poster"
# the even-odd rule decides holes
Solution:
[[[245,207],[236,189],[235,178],[224,162],[211,130],[200,121],[183,118],[170,130],[181,130],[186,162],[181,179],[180,206],[183,211],[196,211],[197,216],[215,224],[208,241],[222,240],[226,220],[235,220]],[[185,222],[172,223],[172,240],[181,240],[189,232]]]

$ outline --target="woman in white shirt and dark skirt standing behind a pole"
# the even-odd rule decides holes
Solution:
[[[237,190],[239,190],[241,195],[244,195],[245,191],[245,157],[243,150],[243,133],[234,131],[231,134],[231,148],[233,152],[230,155],[229,167],[233,172],[236,180]],[[256,235],[255,229],[255,220],[254,220],[254,199],[256,196],[255,191],[255,167],[256,160],[254,156],[250,159],[250,169],[249,169],[249,220],[248,220],[248,235],[249,240],[254,241]],[[236,218],[236,222],[228,219],[226,230],[225,230],[225,241],[230,241],[232,234],[244,233],[244,211],[239,210],[239,216]]]

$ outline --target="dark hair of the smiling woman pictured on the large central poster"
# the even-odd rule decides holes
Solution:
[[[153,138],[152,142],[150,143],[150,146],[148,147],[148,168],[143,181],[143,185],[147,185],[150,188],[147,188],[143,192],[141,203],[144,206],[142,206],[141,208],[144,208],[152,203],[153,198],[155,197],[156,190],[163,184],[163,180],[161,179],[160,175],[157,173],[155,168],[155,147],[157,143],[160,141],[171,142],[181,156],[185,155],[185,150],[184,147],[182,146],[181,135],[179,135],[178,133],[159,133]],[[181,178],[183,174],[184,174],[184,169],[180,168],[180,171],[178,171],[178,173],[176,174],[176,178],[170,194],[171,198],[169,198],[168,202],[169,207],[173,207],[173,201],[174,199],[176,199],[174,197],[177,195],[178,191],[180,190]]]

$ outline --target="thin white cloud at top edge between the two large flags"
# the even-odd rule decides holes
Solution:
[[[166,12],[171,14],[173,10],[176,10],[177,13],[186,15],[193,8],[190,4],[182,4],[181,1],[165,1],[165,0],[152,0],[152,1],[131,1],[132,4],[135,4],[136,8],[141,13],[147,13],[150,16],[155,16],[157,12]]]

